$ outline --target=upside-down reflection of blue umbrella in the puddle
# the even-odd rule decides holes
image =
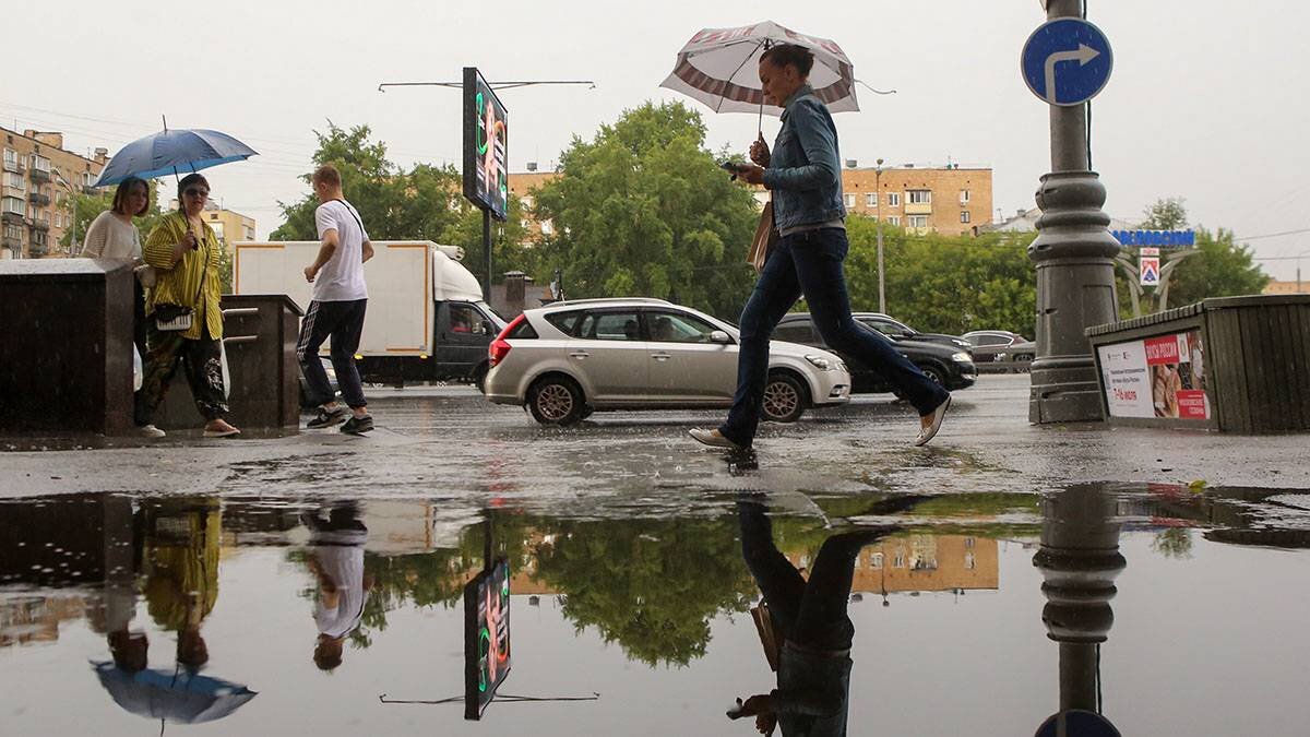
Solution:
[[[241,686],[179,669],[128,673],[113,662],[93,664],[100,685],[124,709],[164,721],[200,724],[223,719],[258,694]]]

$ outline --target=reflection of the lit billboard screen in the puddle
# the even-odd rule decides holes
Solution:
[[[482,719],[510,675],[510,564],[498,560],[464,586],[464,719]]]

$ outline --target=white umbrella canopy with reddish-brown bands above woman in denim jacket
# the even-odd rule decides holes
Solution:
[[[781,115],[782,108],[764,104],[758,66],[765,50],[782,43],[804,46],[814,52],[810,85],[829,111],[859,110],[855,67],[841,46],[773,21],[701,30],[677,52],[673,72],[660,87],[694,97],[715,113],[758,113],[762,109],[770,115]]]

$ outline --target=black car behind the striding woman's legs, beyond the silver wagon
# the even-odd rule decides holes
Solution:
[[[855,320],[865,324],[870,329],[874,329],[867,321],[862,320],[859,315],[855,316]],[[886,336],[886,333],[883,334]],[[778,323],[778,328],[773,332],[773,338],[798,342],[802,345],[812,345],[824,350],[832,350],[840,355],[841,359],[846,362],[846,367],[850,368],[852,392],[875,393],[892,391],[887,382],[869,366],[855,361],[846,353],[829,348],[819,334],[819,330],[815,329],[808,312],[793,312],[783,316],[782,321]],[[973,382],[977,380],[979,374],[977,368],[973,366],[973,358],[963,348],[948,348],[939,342],[925,340],[891,340],[901,355],[908,358],[910,363],[918,366],[918,368],[927,374],[930,379],[942,384],[947,389],[955,391],[972,387]]]

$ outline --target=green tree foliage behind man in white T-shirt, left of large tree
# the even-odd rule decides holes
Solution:
[[[329,121],[328,131],[314,131],[318,148],[314,168],[331,164],[341,172],[346,199],[359,210],[368,236],[373,240],[431,240],[464,248],[464,265],[479,279],[486,270],[482,258],[482,211],[462,195],[462,178],[453,165],[415,164],[401,169],[386,157],[386,144],[371,138],[368,126],[350,130]],[[310,174],[300,178],[309,184]],[[296,202],[279,203],[283,224],[272,231],[274,240],[318,240],[314,210],[318,199],[310,191]],[[524,269],[527,231],[523,209],[511,197],[508,218],[493,223],[493,269],[496,274]]]

